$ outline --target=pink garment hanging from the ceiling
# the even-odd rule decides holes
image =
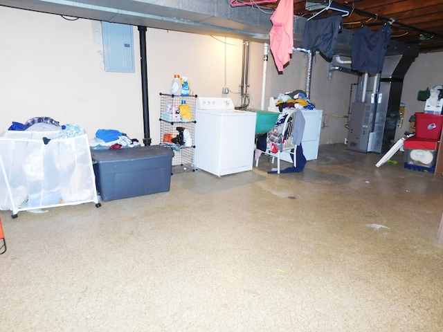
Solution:
[[[271,22],[269,47],[278,71],[283,71],[293,53],[293,0],[280,0]]]

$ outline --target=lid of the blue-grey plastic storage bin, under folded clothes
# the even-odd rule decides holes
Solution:
[[[172,151],[170,147],[164,147],[162,145],[91,151],[92,160],[95,160],[98,163],[138,158],[154,158],[157,156],[162,156],[164,158],[170,156],[170,158],[172,158],[172,156],[174,156],[174,151]]]

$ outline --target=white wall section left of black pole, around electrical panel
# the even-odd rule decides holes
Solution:
[[[100,22],[1,7],[0,30],[2,131],[12,121],[49,116],[91,137],[110,127],[143,133],[140,80],[104,71]]]

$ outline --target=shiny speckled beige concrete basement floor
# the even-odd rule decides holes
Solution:
[[[379,158],[1,211],[0,331],[442,331],[443,177]]]

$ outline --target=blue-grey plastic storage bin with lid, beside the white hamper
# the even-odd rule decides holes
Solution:
[[[174,151],[169,147],[93,150],[91,156],[102,201],[170,190]]]

